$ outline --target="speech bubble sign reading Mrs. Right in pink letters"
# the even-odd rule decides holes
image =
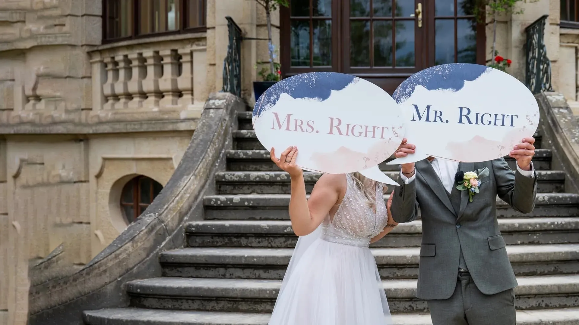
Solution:
[[[297,146],[307,171],[361,172],[397,185],[378,164],[398,149],[404,134],[400,107],[382,88],[336,72],[310,72],[273,84],[255,103],[259,142],[277,158]]]

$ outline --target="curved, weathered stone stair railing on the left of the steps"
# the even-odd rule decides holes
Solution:
[[[119,98],[120,101],[120,98]],[[184,225],[203,219],[203,197],[214,193],[215,172],[225,169],[232,147],[239,97],[213,93],[204,105],[195,134],[161,193],[137,221],[72,275],[33,283],[28,324],[82,324],[82,312],[128,304],[130,280],[160,276],[159,253],[182,247]]]

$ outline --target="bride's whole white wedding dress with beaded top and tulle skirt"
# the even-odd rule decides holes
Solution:
[[[376,186],[376,213],[346,174],[346,195],[332,220],[300,237],[269,325],[392,324],[370,239],[388,221]]]

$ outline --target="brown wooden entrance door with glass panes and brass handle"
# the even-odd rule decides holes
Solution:
[[[291,0],[280,16],[283,76],[349,73],[393,93],[422,69],[485,64],[476,0]]]

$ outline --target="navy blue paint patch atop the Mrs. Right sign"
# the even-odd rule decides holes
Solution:
[[[315,98],[318,101],[325,101],[332,90],[346,88],[355,78],[337,72],[309,72],[282,79],[257,99],[252,115],[261,115],[264,109],[275,105],[283,93],[292,98]]]

